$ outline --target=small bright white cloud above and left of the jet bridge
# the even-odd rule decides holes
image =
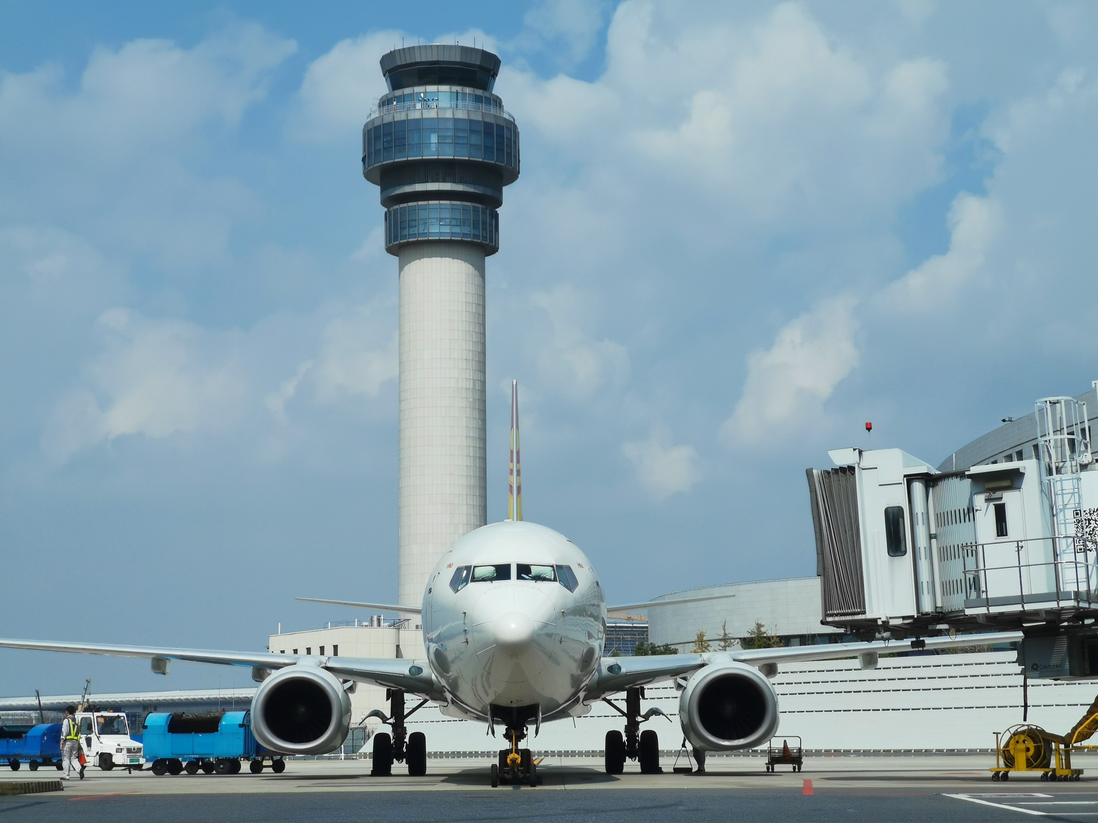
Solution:
[[[854,305],[851,297],[822,301],[787,323],[770,349],[748,356],[743,395],[721,427],[726,442],[785,438],[791,425],[820,413],[859,362]]]

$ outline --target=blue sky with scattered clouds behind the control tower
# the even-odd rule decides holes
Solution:
[[[0,2],[2,633],[254,649],[352,617],[296,595],[395,596],[396,264],[359,129],[402,38],[494,48],[523,131],[490,519],[517,379],[527,517],[612,597],[813,574],[804,470],[865,420],[937,463],[1098,377],[1096,27],[1087,2]],[[234,679],[0,653],[0,694],[85,677]]]

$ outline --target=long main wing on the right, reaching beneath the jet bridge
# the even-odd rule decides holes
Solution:
[[[856,657],[866,652],[888,654],[919,649],[957,649],[993,643],[1016,643],[1021,639],[1021,632],[994,632],[962,634],[955,638],[875,640],[867,643],[820,643],[808,646],[780,646],[777,649],[730,649],[727,652],[702,652],[698,654],[604,657],[598,667],[598,674],[584,695],[584,702],[597,700],[603,695],[614,691],[623,691],[630,686],[647,686],[651,683],[690,675],[709,663],[736,662],[762,666],[768,663],[802,663]]]

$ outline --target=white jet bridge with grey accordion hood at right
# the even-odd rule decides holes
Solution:
[[[1028,676],[1098,677],[1086,407],[1037,412],[1032,460],[942,472],[899,449],[838,449],[834,467],[809,469],[821,622],[865,639],[1023,629]]]

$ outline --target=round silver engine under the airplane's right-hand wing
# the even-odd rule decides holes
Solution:
[[[701,749],[752,748],[777,732],[777,695],[754,666],[710,663],[686,681],[679,720]]]

